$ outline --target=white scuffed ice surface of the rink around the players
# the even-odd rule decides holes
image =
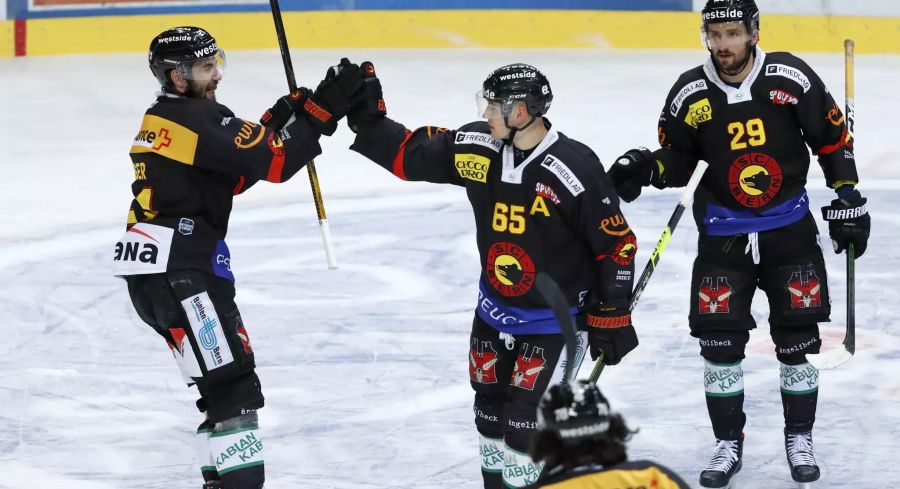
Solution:
[[[300,83],[311,86],[341,56],[371,59],[389,115],[410,127],[476,119],[474,92],[491,69],[534,64],[555,93],[554,127],[604,162],[655,145],[667,91],[705,58],[699,49],[293,55]],[[843,57],[803,57],[842,104]],[[195,393],[110,275],[131,199],[128,150],[156,89],[145,60],[0,60],[0,488],[200,487]],[[229,52],[228,62],[219,101],[239,116],[257,119],[286,91],[276,51]],[[857,57],[856,155],[872,237],[856,272],[858,353],[821,375],[817,487],[900,484],[898,80],[900,58]],[[266,395],[266,486],[477,488],[466,354],[479,264],[465,193],[401,182],[350,152],[351,136],[342,124],[317,159],[339,270],[326,270],[304,174],[235,201],[228,242]],[[833,192],[815,163],[808,188],[820,217]],[[677,196],[649,190],[624,206],[639,269]],[[686,217],[636,310],[639,349],[600,379],[613,409],[640,428],[630,457],[668,465],[691,484],[714,445],[703,361],[686,325],[696,236]],[[826,257],[834,322],[823,336],[833,347],[845,279],[842,257]],[[764,297],[753,312],[760,327],[744,362],[737,481],[792,488]]]

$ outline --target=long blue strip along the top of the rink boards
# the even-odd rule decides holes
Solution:
[[[10,19],[47,19],[54,17],[90,17],[109,15],[196,14],[223,12],[268,12],[269,4],[166,5],[133,7],[106,4],[95,8],[49,8],[29,10],[29,0],[6,1]],[[88,3],[88,2],[85,2]],[[282,0],[281,10],[656,10],[690,11],[691,0]]]

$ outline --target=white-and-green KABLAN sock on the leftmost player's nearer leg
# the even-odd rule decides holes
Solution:
[[[210,453],[226,489],[258,488],[265,482],[263,444],[256,412],[216,423]]]

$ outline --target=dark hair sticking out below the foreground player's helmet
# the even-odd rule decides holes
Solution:
[[[538,430],[531,439],[531,458],[544,462],[544,472],[562,465],[572,470],[586,463],[604,467],[620,464],[628,460],[625,442],[638,430],[630,430],[620,414],[609,417],[609,431],[606,436],[585,439],[576,445],[563,446],[562,440],[552,430]]]

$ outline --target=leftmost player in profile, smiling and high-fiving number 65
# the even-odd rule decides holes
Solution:
[[[362,72],[345,60],[315,93],[278,99],[260,125],[216,102],[225,55],[207,31],[159,34],[149,62],[162,90],[131,146],[134,200],[115,273],[199,390],[203,487],[261,488],[263,395],[225,244],[232,199],[260,180],[289,179],[321,153],[319,137],[334,132]]]

